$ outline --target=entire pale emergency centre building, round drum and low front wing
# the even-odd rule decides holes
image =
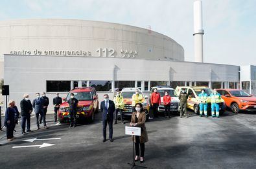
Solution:
[[[184,61],[170,37],[134,26],[70,19],[0,22],[0,56],[10,99],[24,93],[65,96],[95,86],[100,98],[115,88],[208,85],[239,88],[239,66]],[[1,76],[0,76],[1,77]],[[51,107],[52,108],[52,107]]]

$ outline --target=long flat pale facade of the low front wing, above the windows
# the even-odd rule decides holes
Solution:
[[[108,57],[5,55],[4,69],[10,99],[16,101],[25,93],[45,92],[47,80],[239,81],[239,66]],[[104,93],[113,98],[113,92],[99,92],[100,101]],[[48,95],[52,100],[54,93]]]

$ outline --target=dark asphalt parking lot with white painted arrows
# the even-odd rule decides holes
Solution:
[[[219,119],[198,117],[192,112],[189,115],[188,119],[175,115],[146,123],[149,141],[143,166],[256,168],[255,113],[227,111]],[[52,119],[52,114],[47,115],[48,130],[36,130],[32,117],[34,132],[25,136],[21,136],[18,124],[14,134],[17,139],[8,143],[5,132],[0,131],[0,168],[130,168],[127,163],[132,162],[132,142],[124,134],[128,121],[113,125],[113,143],[102,143],[101,113],[94,123],[76,128]],[[40,148],[43,143],[48,146]]]

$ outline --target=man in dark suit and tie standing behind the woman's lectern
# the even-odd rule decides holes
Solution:
[[[106,141],[106,128],[110,130],[110,142],[113,142],[113,113],[115,112],[115,103],[110,101],[108,94],[104,94],[104,101],[100,103],[103,121],[103,142]]]

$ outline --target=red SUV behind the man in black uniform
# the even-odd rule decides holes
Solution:
[[[75,88],[67,94],[67,97],[62,98],[64,103],[60,105],[58,112],[58,119],[60,123],[69,121],[69,104],[67,101],[70,99],[70,94],[73,93],[75,98],[78,99],[78,107],[76,110],[76,117],[78,121],[94,121],[94,115],[99,109],[98,95],[95,88],[83,87]]]

